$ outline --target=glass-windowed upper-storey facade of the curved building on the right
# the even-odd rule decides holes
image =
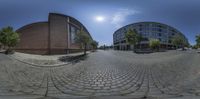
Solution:
[[[182,35],[181,32],[176,30],[175,28],[161,24],[161,23],[156,23],[156,22],[139,22],[139,23],[134,23],[127,25],[125,27],[122,27],[118,29],[114,34],[113,34],[113,43],[114,46],[116,44],[118,45],[127,45],[124,40],[125,40],[125,33],[128,29],[136,29],[139,34],[141,34],[143,37],[147,39],[158,39],[160,40],[161,44],[168,44],[171,45],[171,37],[174,35],[181,35],[185,38],[187,41],[186,37]],[[147,44],[148,42],[144,42],[144,44]],[[143,43],[141,43],[143,44]]]

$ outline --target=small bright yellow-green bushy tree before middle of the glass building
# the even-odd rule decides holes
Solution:
[[[150,39],[149,46],[153,50],[156,49],[157,51],[159,51],[160,41],[158,39]]]

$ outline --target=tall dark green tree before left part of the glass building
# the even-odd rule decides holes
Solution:
[[[128,29],[128,31],[125,34],[126,41],[133,45],[133,51],[135,52],[135,45],[140,42],[140,35],[137,33],[137,31],[134,29]]]

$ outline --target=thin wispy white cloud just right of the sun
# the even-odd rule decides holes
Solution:
[[[127,16],[134,15],[136,13],[138,13],[136,10],[119,9],[112,17],[111,23],[114,24],[116,28],[120,28],[122,27],[122,24],[126,20]]]

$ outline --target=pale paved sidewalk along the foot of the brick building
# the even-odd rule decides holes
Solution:
[[[89,51],[87,53],[90,53]],[[64,55],[34,55],[34,54],[25,54],[20,52],[15,52],[12,55],[9,55],[11,58],[14,58],[20,62],[34,65],[34,66],[60,66],[67,65],[70,62],[68,61],[60,61],[59,59],[62,57],[74,57],[83,55],[83,52],[72,53],[72,54],[64,54]]]

